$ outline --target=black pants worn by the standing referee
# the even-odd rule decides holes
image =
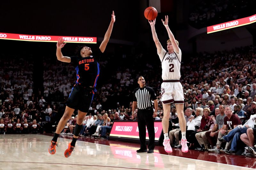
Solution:
[[[154,128],[154,110],[150,109],[138,109],[138,128],[140,136],[140,149],[147,149],[146,145],[146,126],[148,129],[148,149],[155,148],[155,128]]]

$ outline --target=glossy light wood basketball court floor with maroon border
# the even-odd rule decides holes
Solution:
[[[48,153],[52,134],[0,135],[0,169],[173,169],[246,170],[256,168],[256,159],[238,155],[174,149],[137,153],[139,144],[79,137],[69,158],[64,151],[72,136],[61,136],[54,155]]]

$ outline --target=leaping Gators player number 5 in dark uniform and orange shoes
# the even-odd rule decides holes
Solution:
[[[63,48],[66,43],[64,43],[62,38],[59,38],[57,42],[57,59],[62,62],[72,63],[76,67],[77,80],[68,97],[64,115],[60,119],[54,137],[52,138],[49,147],[50,154],[54,154],[56,152],[56,146],[58,146],[57,139],[60,132],[65,127],[67,120],[74,113],[75,109],[78,109],[74,136],[72,142],[68,144],[68,149],[64,152],[65,157],[68,158],[74,151],[79,132],[83,128],[84,116],[89,110],[94,92],[96,91],[95,86],[100,72],[99,55],[105,51],[115,21],[116,17],[113,11],[108,30],[105,33],[104,40],[101,42],[99,49],[96,51],[96,55],[94,55],[95,53],[92,53],[91,48],[84,45],[77,48],[77,56],[63,56],[61,48]]]

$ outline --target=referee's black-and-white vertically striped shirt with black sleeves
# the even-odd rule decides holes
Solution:
[[[156,93],[151,87],[145,86],[143,88],[136,88],[133,92],[133,101],[137,102],[139,109],[146,109],[152,107],[152,101],[156,100]]]

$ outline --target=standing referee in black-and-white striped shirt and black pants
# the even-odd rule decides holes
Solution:
[[[154,118],[157,116],[158,102],[156,99],[156,93],[151,87],[145,85],[144,77],[138,78],[139,88],[136,88],[133,92],[132,102],[132,118],[134,117],[134,110],[138,106],[138,128],[140,136],[140,149],[137,152],[153,153],[155,148],[155,128]],[[154,100],[155,111],[151,100]],[[146,126],[148,129],[148,150],[146,145]]]

